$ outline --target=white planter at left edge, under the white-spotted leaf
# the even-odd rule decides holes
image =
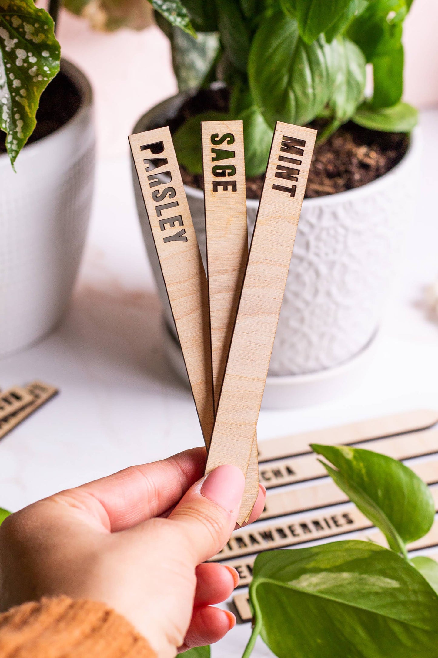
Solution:
[[[60,321],[83,250],[93,193],[95,134],[87,78],[61,70],[82,97],[62,128],[24,147],[15,174],[0,156],[0,357]]]

